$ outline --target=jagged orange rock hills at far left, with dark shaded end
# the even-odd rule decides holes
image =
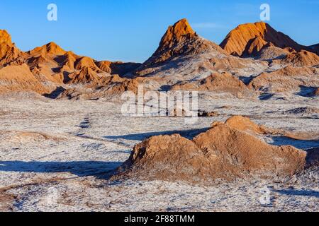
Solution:
[[[0,67],[5,67],[0,76],[0,83],[6,84],[1,85],[3,92],[5,90],[33,90],[43,94],[44,90],[50,93],[55,88],[67,84],[101,85],[108,81],[107,77],[111,76],[110,73],[125,74],[133,71],[140,64],[109,62],[108,66],[110,66],[109,71],[98,61],[67,52],[55,42],[36,47],[28,52],[21,52],[11,42],[8,32],[0,30]],[[9,74],[4,76],[4,73],[9,73],[11,70],[14,76]],[[21,71],[20,78],[16,76],[18,70]],[[30,76],[30,73],[33,76]],[[26,77],[23,78],[23,76]],[[13,80],[10,81],[10,78]],[[9,85],[11,83],[12,87]],[[21,84],[20,88],[18,84]]]

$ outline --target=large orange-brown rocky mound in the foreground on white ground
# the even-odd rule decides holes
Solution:
[[[151,137],[135,146],[124,169],[125,174],[143,179],[211,182],[286,177],[305,164],[302,150],[269,145],[230,124],[218,123],[192,141],[177,134]]]

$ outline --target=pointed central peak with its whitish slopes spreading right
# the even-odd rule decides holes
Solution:
[[[166,78],[169,83],[161,85],[167,86],[200,81],[216,72],[257,76],[267,67],[264,61],[230,56],[218,44],[197,35],[182,19],[167,29],[155,53],[135,71],[135,76]]]

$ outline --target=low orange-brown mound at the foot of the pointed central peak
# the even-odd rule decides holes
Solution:
[[[237,97],[249,95],[251,90],[238,78],[230,73],[212,73],[200,81],[182,82],[172,86],[172,90],[211,91],[216,93],[231,93]]]

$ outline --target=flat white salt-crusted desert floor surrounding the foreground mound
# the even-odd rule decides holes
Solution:
[[[260,180],[199,186],[184,182],[109,181],[134,145],[159,134],[196,136],[213,121],[242,114],[269,127],[319,133],[318,98],[202,97],[219,117],[124,117],[121,103],[1,97],[0,210],[4,211],[297,211],[319,210],[318,169],[286,182]],[[230,108],[221,108],[230,106]],[[301,108],[301,109],[300,109]],[[319,147],[319,140],[264,137],[274,145]],[[269,203],[262,204],[264,190]]]

